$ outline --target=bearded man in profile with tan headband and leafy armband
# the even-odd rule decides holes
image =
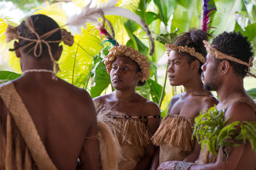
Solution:
[[[204,88],[217,91],[220,99],[217,109],[224,111],[223,121],[228,119],[225,126],[230,126],[236,121],[253,121],[255,124],[256,103],[248,96],[243,86],[243,79],[250,71],[253,56],[247,37],[243,37],[241,33],[224,32],[212,41],[212,45],[207,41],[204,41],[204,44],[209,51],[206,57],[207,62],[202,66]],[[238,134],[242,134],[240,132],[242,127],[240,123],[235,126],[231,139],[229,138],[230,141],[237,139]],[[247,134],[246,136],[249,136],[249,133],[256,135],[255,130],[244,131],[243,133]],[[212,136],[211,140],[215,139],[218,138]],[[207,155],[208,149],[204,147],[196,161],[196,164],[201,165],[192,165],[191,162],[169,161],[162,164],[159,170],[255,170],[255,144],[250,143],[247,137],[246,139],[242,140],[241,143],[233,140],[233,144],[238,144],[236,147],[230,147],[227,143],[226,147],[218,145],[217,155]],[[213,142],[212,144],[216,144],[216,141]],[[207,148],[210,145],[211,143],[207,145]],[[230,150],[232,151],[230,152]],[[228,154],[229,152],[230,154]]]

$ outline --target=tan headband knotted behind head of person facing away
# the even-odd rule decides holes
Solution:
[[[34,49],[34,56],[35,57],[40,57],[41,56],[41,53],[42,53],[42,43],[45,43],[47,45],[47,47],[48,47],[49,55],[51,57],[51,60],[52,60],[52,62],[54,64],[54,68],[55,68],[54,74],[52,74],[52,79],[57,80],[56,74],[58,73],[58,71],[60,71],[60,68],[58,66],[58,63],[56,63],[55,60],[53,59],[52,51],[51,51],[49,43],[63,41],[64,44],[72,46],[73,43],[74,43],[74,37],[71,35],[70,32],[67,32],[66,29],[61,29],[60,27],[55,28],[55,29],[53,29],[53,30],[51,30],[51,31],[49,31],[49,32],[39,36],[39,34],[35,31],[35,26],[34,26],[34,23],[33,23],[31,17],[26,18],[24,20],[24,22],[25,22],[26,26],[29,28],[29,30],[36,35],[37,39],[29,39],[29,38],[26,38],[26,37],[22,37],[22,36],[20,36],[20,32],[18,31],[19,26],[12,27],[12,26],[8,25],[7,29],[6,29],[6,32],[5,32],[5,34],[6,34],[6,42],[10,42],[11,40],[18,40],[19,41],[20,39],[31,41],[31,42],[27,43],[26,45],[20,47],[20,49],[25,49],[29,45],[32,45],[33,43],[36,42],[35,46],[33,48],[31,48],[31,50],[30,50],[30,51],[32,51]],[[49,36],[51,36],[52,34],[54,34],[58,30],[61,30],[61,40],[57,40],[57,41],[46,41],[45,40],[45,39],[47,39]],[[38,46],[39,46],[39,54],[36,53]],[[9,50],[10,51],[14,51],[14,49],[9,49]],[[28,51],[28,53],[30,51]]]

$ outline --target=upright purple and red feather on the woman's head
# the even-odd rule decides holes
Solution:
[[[209,28],[215,28],[215,27],[208,27],[209,23],[212,22],[210,21],[210,16],[214,12],[212,12],[211,14],[209,13],[213,10],[217,11],[217,9],[214,8],[214,6],[209,5],[208,3],[209,3],[209,0],[202,0],[203,10],[201,12],[201,29],[206,32],[208,31]]]

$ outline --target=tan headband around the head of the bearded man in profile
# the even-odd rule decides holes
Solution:
[[[215,56],[215,58],[217,59],[228,59],[230,61],[233,61],[233,62],[238,62],[239,64],[242,64],[242,65],[246,65],[248,68],[247,70],[245,70],[250,76],[252,77],[255,77],[255,75],[251,74],[250,73],[250,67],[253,66],[253,57],[250,57],[249,58],[249,62],[244,62],[244,61],[241,61],[240,59],[237,59],[235,57],[232,57],[232,56],[229,56],[227,54],[224,54],[222,53],[221,51],[218,51],[216,48],[212,47],[212,45],[206,41],[206,40],[203,40],[204,42],[204,46],[206,48],[207,51],[209,51],[210,54],[212,54],[213,56]]]

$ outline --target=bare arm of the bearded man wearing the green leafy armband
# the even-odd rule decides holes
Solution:
[[[227,109],[225,113],[224,119],[227,119],[228,117],[232,116],[228,122],[227,125],[229,125],[232,122],[235,121],[255,121],[255,113],[252,111],[251,108],[248,108],[249,106],[246,104],[241,103],[235,103],[233,104],[233,107],[230,107]],[[241,114],[243,113],[243,114]],[[239,127],[238,127],[239,128]],[[238,133],[237,131],[234,131],[235,134]],[[203,164],[203,165],[192,165],[189,170],[236,170],[236,169],[255,169],[255,154],[252,153],[251,147],[249,151],[245,150],[245,147],[250,145],[250,143],[241,144],[239,147],[234,148],[232,154],[230,155],[228,162],[226,159],[224,161],[221,160],[222,156],[222,150],[219,149],[218,152],[218,158],[215,163],[212,164]],[[246,152],[246,153],[244,153]],[[253,157],[253,159],[252,159]],[[243,159],[243,160],[241,160]],[[248,161],[249,160],[249,161]],[[158,168],[158,170],[169,170],[172,169],[172,164],[175,161],[169,161],[161,164],[161,166]],[[250,168],[249,168],[250,167]]]

